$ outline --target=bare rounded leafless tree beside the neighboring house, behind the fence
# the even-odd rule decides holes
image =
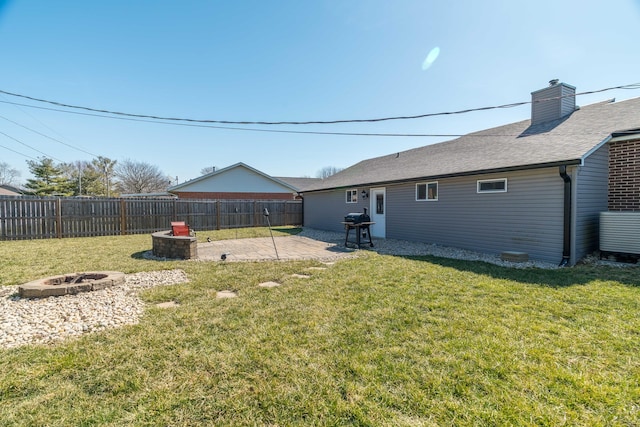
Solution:
[[[166,191],[171,183],[157,166],[128,159],[116,165],[114,174],[121,193],[156,193]]]

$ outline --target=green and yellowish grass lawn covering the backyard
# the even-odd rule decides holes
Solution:
[[[308,270],[322,264],[161,262],[150,247],[0,242],[2,285],[102,269],[191,280],[143,292],[138,325],[0,350],[0,425],[640,425],[636,268],[367,252]],[[257,286],[269,280],[282,286]]]

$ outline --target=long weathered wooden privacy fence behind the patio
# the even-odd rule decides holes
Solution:
[[[300,200],[0,197],[0,240],[112,236],[169,230],[301,225]]]

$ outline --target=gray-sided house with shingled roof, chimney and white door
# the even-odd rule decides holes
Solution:
[[[640,211],[640,98],[580,108],[557,81],[531,95],[531,120],[364,160],[306,188],[304,225],[342,231],[367,208],[373,236],[575,264],[598,249],[600,212]]]

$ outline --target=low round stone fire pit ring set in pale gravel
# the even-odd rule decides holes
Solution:
[[[18,286],[22,298],[46,298],[75,295],[80,292],[97,291],[124,283],[124,273],[119,271],[95,271],[45,277]]]

